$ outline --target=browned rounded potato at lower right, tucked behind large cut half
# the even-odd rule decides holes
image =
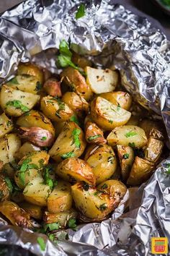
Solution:
[[[109,194],[111,197],[114,197],[117,202],[120,202],[127,192],[127,187],[120,181],[115,179],[109,179],[106,182],[102,182],[97,187],[102,192]]]

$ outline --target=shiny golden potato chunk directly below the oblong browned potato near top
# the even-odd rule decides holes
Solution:
[[[62,97],[62,101],[66,103],[78,116],[82,115],[82,111],[89,111],[89,103],[84,98],[74,92],[66,92]]]

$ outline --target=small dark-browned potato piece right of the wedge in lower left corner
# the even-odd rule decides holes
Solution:
[[[33,205],[30,202],[20,202],[19,206],[30,214],[32,218],[41,220],[43,216],[43,210],[39,205]]]

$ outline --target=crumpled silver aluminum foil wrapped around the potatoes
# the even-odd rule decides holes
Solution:
[[[86,15],[75,20],[76,0],[25,1],[8,10],[0,20],[0,77],[8,79],[20,60],[31,59],[52,72],[55,51],[65,38],[79,54],[87,54],[98,67],[120,70],[122,85],[135,101],[162,116],[170,138],[169,41],[145,17],[133,14],[114,1],[84,1]],[[42,52],[43,51],[43,52]],[[69,241],[52,244],[45,235],[1,221],[0,245],[18,247],[34,255],[151,255],[151,237],[170,240],[170,158],[156,169],[147,184],[130,196],[102,223],[68,230]],[[62,232],[61,232],[62,233]],[[62,235],[62,234],[61,234]],[[47,242],[40,251],[37,236]],[[1,247],[0,247],[1,249]],[[26,255],[26,254],[25,254]]]

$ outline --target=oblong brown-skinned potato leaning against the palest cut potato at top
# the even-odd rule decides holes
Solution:
[[[91,88],[87,85],[86,80],[77,69],[66,67],[66,69],[63,69],[63,72],[61,72],[61,79],[63,79],[63,82],[65,82],[71,90],[81,95],[86,101],[89,101],[92,97],[93,93]]]

